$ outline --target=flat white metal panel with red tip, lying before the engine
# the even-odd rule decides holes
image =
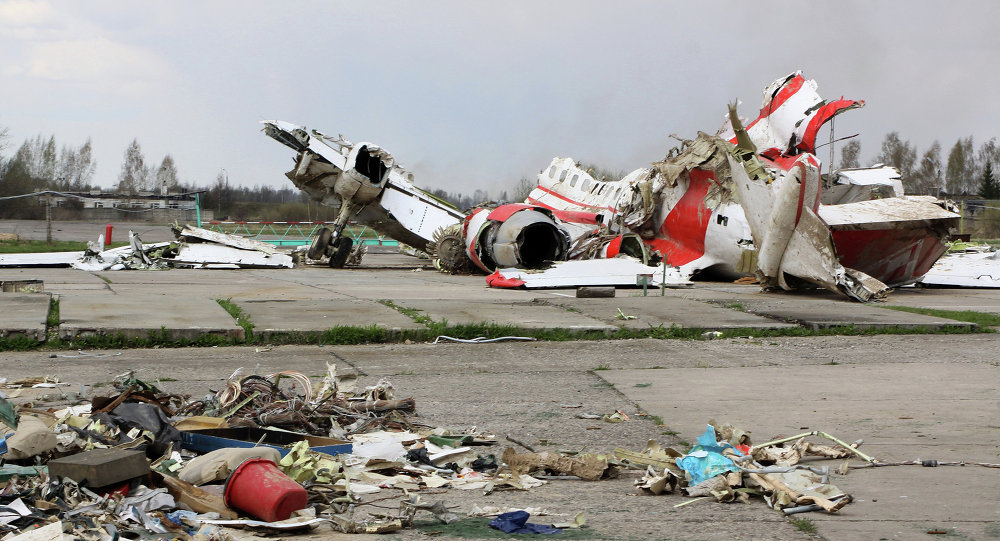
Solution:
[[[664,273],[664,271],[666,271]],[[649,266],[631,257],[560,261],[544,270],[517,268],[499,269],[487,279],[491,287],[621,286],[635,287],[637,277],[645,276],[647,285],[660,287],[690,287],[691,282],[676,267],[660,264]]]

